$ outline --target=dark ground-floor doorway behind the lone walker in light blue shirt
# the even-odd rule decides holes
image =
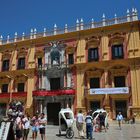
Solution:
[[[127,117],[127,101],[115,101],[115,107],[116,107],[116,116],[119,112],[122,113],[123,117]]]

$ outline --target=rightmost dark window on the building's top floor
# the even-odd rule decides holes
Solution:
[[[123,44],[112,46],[112,59],[121,59],[124,57]]]

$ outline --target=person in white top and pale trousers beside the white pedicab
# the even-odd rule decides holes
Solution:
[[[76,117],[76,127],[80,138],[84,138],[83,125],[84,125],[84,115],[82,113],[82,110],[79,110],[79,113],[77,114]]]

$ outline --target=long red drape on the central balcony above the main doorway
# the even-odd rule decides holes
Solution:
[[[33,91],[33,96],[59,96],[59,95],[75,95],[74,89],[53,90],[53,91]]]

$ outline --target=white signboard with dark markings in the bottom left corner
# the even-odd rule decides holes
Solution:
[[[2,122],[0,127],[0,140],[7,140],[11,122]]]

